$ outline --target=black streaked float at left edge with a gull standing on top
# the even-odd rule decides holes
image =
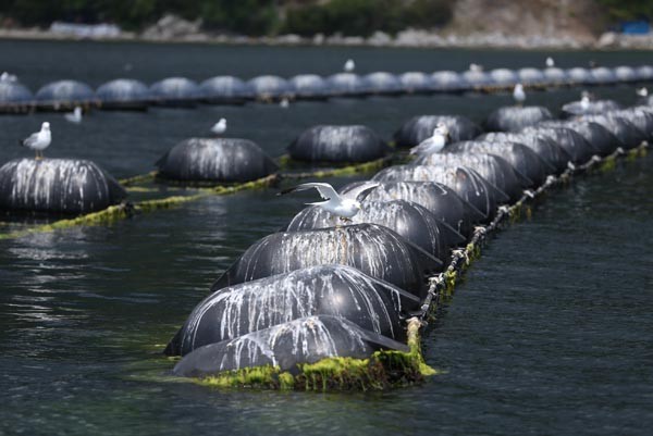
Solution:
[[[0,210],[79,214],[125,197],[120,184],[90,161],[15,159],[0,167]]]

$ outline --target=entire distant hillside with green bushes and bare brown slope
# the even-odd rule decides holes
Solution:
[[[139,33],[165,14],[249,36],[368,36],[406,28],[587,39],[620,20],[653,17],[653,0],[3,0],[0,27],[115,23]]]

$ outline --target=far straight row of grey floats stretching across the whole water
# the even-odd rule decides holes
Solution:
[[[147,110],[149,107],[195,108],[198,104],[244,104],[281,100],[328,100],[334,97],[402,96],[463,92],[503,92],[520,83],[529,89],[570,86],[597,86],[653,80],[653,66],[614,68],[574,67],[489,72],[439,71],[432,74],[384,72],[357,75],[336,73],[329,77],[300,74],[289,79],[263,75],[248,82],[234,76],[215,76],[201,84],[184,77],[169,77],[151,86],[120,78],[93,90],[77,80],[59,80],[33,94],[21,83],[0,83],[0,114],[26,114],[35,111]]]

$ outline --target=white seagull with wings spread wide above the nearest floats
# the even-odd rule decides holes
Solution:
[[[332,215],[336,215],[341,219],[341,221],[352,221],[352,219],[360,212],[360,202],[358,201],[358,196],[362,192],[373,189],[379,186],[379,183],[366,183],[361,186],[358,186],[345,194],[337,194],[333,186],[328,183],[303,183],[301,185],[294,186],[292,188],[282,190],[279,192],[279,196],[295,192],[298,190],[307,190],[311,188],[316,188],[318,192],[320,192],[320,197],[324,199],[324,201],[317,201],[313,203],[306,203],[308,205],[317,205]]]

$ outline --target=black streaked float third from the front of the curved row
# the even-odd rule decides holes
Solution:
[[[249,247],[211,290],[323,264],[354,266],[420,299],[428,290],[424,275],[442,270],[440,260],[390,228],[357,224],[269,235]]]

